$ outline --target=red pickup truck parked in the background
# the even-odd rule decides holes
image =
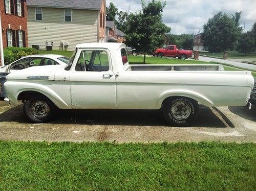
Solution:
[[[163,57],[163,56],[169,56],[169,57],[178,57],[179,59],[185,60],[188,57],[192,57],[192,51],[189,50],[179,50],[177,49],[177,46],[174,44],[170,44],[163,49],[157,49],[153,56],[157,57]]]

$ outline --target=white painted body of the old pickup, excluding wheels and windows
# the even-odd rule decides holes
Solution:
[[[254,83],[249,71],[203,69],[209,65],[200,65],[200,70],[198,64],[184,70],[170,70],[174,65],[123,65],[120,52],[125,44],[121,43],[83,43],[76,48],[70,70],[51,65],[9,74],[4,84],[9,103],[17,104],[21,91],[32,90],[45,94],[60,109],[160,109],[166,98],[174,96],[188,97],[208,107],[244,106]],[[109,71],[75,70],[84,50],[105,51]],[[49,78],[28,80],[30,76]]]

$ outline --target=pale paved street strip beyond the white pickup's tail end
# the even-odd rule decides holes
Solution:
[[[210,58],[210,57],[205,57],[205,56],[199,56],[199,60],[205,61],[205,62],[210,62],[210,61],[220,62],[220,63],[224,63],[224,64],[231,64],[233,66],[256,70],[256,65],[246,64],[246,63],[242,63],[242,62],[236,62],[233,60],[232,61],[231,60],[223,60],[223,59],[219,59],[219,58]]]

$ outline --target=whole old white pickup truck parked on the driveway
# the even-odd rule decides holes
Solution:
[[[245,106],[253,88],[250,71],[222,65],[129,65],[125,44],[78,44],[70,63],[30,67],[9,74],[9,103],[24,103],[34,123],[60,109],[162,109],[173,126],[189,126],[199,107]]]

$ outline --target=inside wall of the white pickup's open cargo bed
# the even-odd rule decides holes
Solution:
[[[125,68],[126,71],[216,71],[224,70],[221,64],[189,64],[189,65],[165,65],[165,64],[148,64],[148,65],[129,65]]]

